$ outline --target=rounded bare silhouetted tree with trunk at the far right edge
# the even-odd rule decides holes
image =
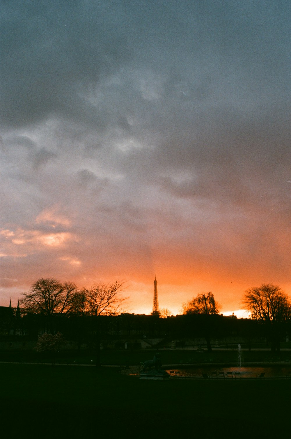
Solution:
[[[291,318],[291,302],[279,285],[262,284],[245,291],[244,306],[251,318],[264,322],[272,337],[272,350],[280,351],[282,325]]]

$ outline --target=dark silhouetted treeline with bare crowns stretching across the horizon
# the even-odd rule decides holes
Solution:
[[[2,335],[8,333],[37,338],[43,333],[64,334],[66,339],[96,345],[101,341],[128,338],[138,344],[138,338],[160,337],[164,344],[170,340],[202,337],[207,349],[212,349],[213,339],[243,336],[251,345],[252,340],[265,338],[272,350],[280,350],[280,342],[290,333],[291,305],[279,286],[262,284],[245,292],[244,303],[252,319],[232,319],[219,314],[212,292],[201,293],[183,305],[183,315],[159,318],[122,313],[126,297],[124,284],[95,284],[92,288],[79,289],[74,283],[61,283],[57,279],[39,279],[29,292],[23,294],[20,308],[0,319]],[[0,316],[1,317],[1,316]],[[11,326],[12,325],[12,326]],[[123,343],[122,342],[122,343]],[[111,343],[112,344],[112,343]]]

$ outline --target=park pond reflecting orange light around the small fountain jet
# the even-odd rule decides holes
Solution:
[[[166,369],[172,377],[184,378],[291,378],[291,366],[179,367]]]

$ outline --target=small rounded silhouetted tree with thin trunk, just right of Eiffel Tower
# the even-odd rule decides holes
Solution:
[[[208,293],[200,293],[190,300],[190,302],[187,302],[186,304],[183,303],[183,314],[201,314],[204,316],[205,340],[207,350],[211,352],[209,317],[214,314],[219,314],[219,305],[214,299],[212,292],[208,291]]]

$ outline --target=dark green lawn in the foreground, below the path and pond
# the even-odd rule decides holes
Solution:
[[[15,364],[0,364],[0,373],[3,438],[262,438],[290,431],[287,379],[142,381],[110,367]]]

